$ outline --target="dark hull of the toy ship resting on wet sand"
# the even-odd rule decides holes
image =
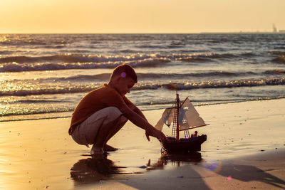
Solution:
[[[201,144],[206,140],[206,134],[189,139],[180,139],[179,142],[173,137],[167,137],[167,140],[162,142],[162,148],[169,153],[197,152],[201,150]]]

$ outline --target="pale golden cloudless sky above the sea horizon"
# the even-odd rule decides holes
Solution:
[[[285,0],[0,0],[0,33],[285,30]]]

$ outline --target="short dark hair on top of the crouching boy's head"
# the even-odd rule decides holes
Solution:
[[[135,73],[135,70],[125,63],[123,65],[118,65],[118,67],[113,70],[110,80],[113,80],[118,76],[122,78],[132,78],[135,83],[138,83],[138,76]]]

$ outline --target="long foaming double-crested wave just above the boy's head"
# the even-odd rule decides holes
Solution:
[[[214,58],[232,58],[232,54],[217,53],[153,53],[130,56],[102,56],[89,54],[61,54],[56,56],[11,56],[0,58],[0,72],[21,72],[32,70],[66,70],[115,68],[128,63],[136,68],[157,67],[172,60],[182,62],[209,62]]]

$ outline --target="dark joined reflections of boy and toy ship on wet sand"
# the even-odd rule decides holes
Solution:
[[[152,169],[164,169],[167,164],[175,164],[180,166],[182,162],[201,162],[202,157],[199,152],[192,152],[189,154],[166,154],[162,153],[160,159],[153,164],[150,159],[145,167],[140,167],[149,171]],[[71,168],[71,178],[78,184],[97,183],[102,180],[115,179],[118,174],[140,174],[141,172],[125,172],[126,167],[118,167],[114,162],[103,157],[88,157],[87,159],[80,159]]]

